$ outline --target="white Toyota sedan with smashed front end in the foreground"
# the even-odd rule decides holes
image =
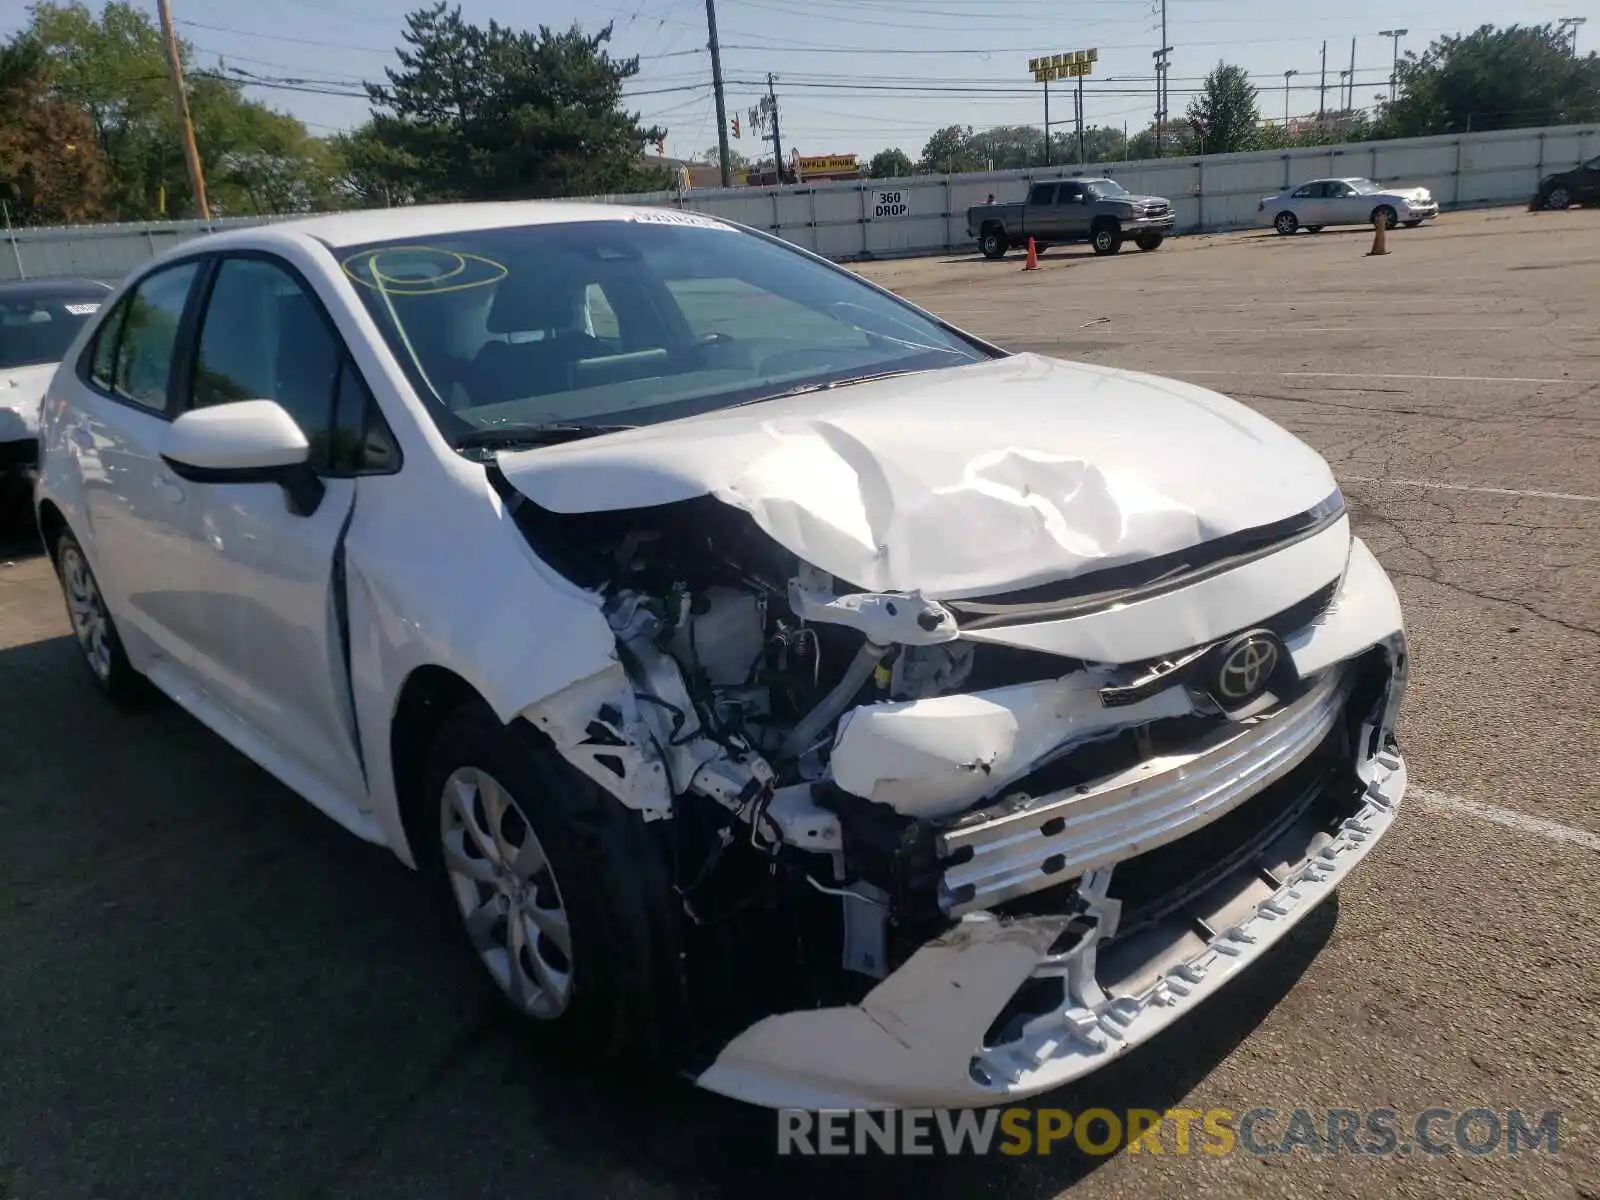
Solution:
[[[1203,1021],[1405,790],[1318,454],[694,214],[189,242],[72,347],[35,494],[107,694],[418,867],[552,1050],[755,1104]]]

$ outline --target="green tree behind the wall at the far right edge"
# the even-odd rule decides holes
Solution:
[[[1574,58],[1554,26],[1437,38],[1405,56],[1397,82],[1398,99],[1379,114],[1386,138],[1600,120],[1600,59]]]

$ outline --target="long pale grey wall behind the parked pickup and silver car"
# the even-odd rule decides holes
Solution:
[[[670,205],[766,229],[834,259],[894,258],[966,248],[966,208],[994,192],[1021,200],[1035,179],[1110,176],[1133,192],[1165,195],[1178,232],[1240,229],[1258,222],[1256,203],[1291,182],[1318,176],[1366,176],[1434,192],[1443,208],[1525,203],[1541,176],[1600,154],[1600,126],[1506,130],[1443,138],[1258,150],[1200,158],[1032,168],[982,174],[923,174],[813,187],[734,187],[686,195],[595,197],[611,203]],[[880,192],[901,194],[904,211],[877,214]],[[152,221],[6,232],[0,278],[90,275],[115,280],[168,246],[211,229],[291,218]]]

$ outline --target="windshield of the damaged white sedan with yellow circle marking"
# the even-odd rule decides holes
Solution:
[[[990,357],[848,272],[685,213],[336,253],[458,445],[496,429],[653,424]]]

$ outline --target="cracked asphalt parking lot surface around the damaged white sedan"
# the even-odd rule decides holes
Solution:
[[[90,691],[0,541],[0,1198],[1600,1197],[1600,211],[862,267],[1010,349],[1232,394],[1333,464],[1406,605],[1413,794],[1222,1000],[1045,1102],[1560,1110],[1555,1157],[797,1162],[531,1056],[414,878]],[[1282,1126],[1280,1126],[1282,1131]]]

